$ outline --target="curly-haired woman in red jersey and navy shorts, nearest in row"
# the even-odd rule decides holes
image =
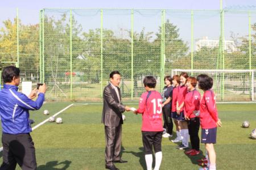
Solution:
[[[201,143],[205,143],[206,158],[208,166],[200,169],[216,169],[216,152],[213,144],[216,143],[217,126],[221,127],[216,108],[216,96],[211,90],[213,79],[206,74],[197,76],[199,88],[204,91],[200,102],[200,124],[201,124]]]

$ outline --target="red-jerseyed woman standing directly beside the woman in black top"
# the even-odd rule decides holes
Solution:
[[[172,90],[172,109],[171,109],[171,118],[174,119],[174,124],[176,126],[176,135],[177,137],[172,140],[172,142],[180,142],[181,137],[180,137],[180,127],[178,125],[177,120],[175,119],[176,115],[176,105],[177,105],[177,96],[179,95],[179,84],[180,84],[180,76],[179,75],[174,75],[172,76],[172,86],[174,86]]]

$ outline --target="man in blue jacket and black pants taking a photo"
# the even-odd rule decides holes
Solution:
[[[43,105],[46,84],[26,96],[18,92],[20,82],[19,69],[8,66],[3,69],[3,89],[0,91],[0,116],[2,122],[3,163],[0,169],[15,169],[16,164],[24,169],[36,169],[34,142],[28,113]]]

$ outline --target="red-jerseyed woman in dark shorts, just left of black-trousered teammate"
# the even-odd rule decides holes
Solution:
[[[177,146],[179,150],[188,149],[188,141],[189,141],[189,134],[188,134],[188,122],[185,120],[185,111],[184,111],[184,100],[185,95],[187,94],[187,86],[185,86],[187,82],[188,74],[181,73],[180,74],[180,87],[178,87],[179,94],[177,96],[177,104],[176,104],[176,114],[175,118],[178,121],[180,126],[180,136],[182,143]]]

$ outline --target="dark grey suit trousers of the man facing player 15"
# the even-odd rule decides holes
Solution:
[[[105,162],[106,165],[112,165],[114,160],[121,159],[122,125],[105,126],[105,141]]]

